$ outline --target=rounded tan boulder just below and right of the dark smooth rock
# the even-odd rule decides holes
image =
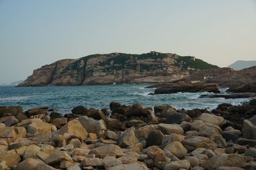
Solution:
[[[170,153],[172,153],[173,155],[175,155],[175,157],[178,157],[178,158],[183,158],[188,153],[186,148],[184,148],[182,143],[180,143],[179,141],[175,141],[170,144],[167,144],[164,150],[170,151]]]

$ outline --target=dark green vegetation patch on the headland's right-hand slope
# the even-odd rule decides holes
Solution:
[[[214,68],[219,68],[216,65],[211,65],[209,63],[206,63],[202,59],[196,59],[191,56],[179,56],[176,59],[177,63],[175,63],[176,66],[182,66],[183,68],[198,68],[200,70],[209,70]]]

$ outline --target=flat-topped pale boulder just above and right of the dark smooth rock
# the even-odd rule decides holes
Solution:
[[[160,123],[158,125],[159,130],[161,130],[163,132],[163,134],[184,134],[183,128],[180,127],[180,125],[176,125],[176,124],[164,124],[164,123]]]

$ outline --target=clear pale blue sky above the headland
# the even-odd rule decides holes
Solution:
[[[150,50],[256,60],[256,1],[0,0],[0,84],[58,59]]]

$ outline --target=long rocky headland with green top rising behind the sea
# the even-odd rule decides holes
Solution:
[[[194,57],[170,53],[94,54],[42,66],[19,86],[166,82],[186,77],[195,70],[212,68],[218,66]]]

